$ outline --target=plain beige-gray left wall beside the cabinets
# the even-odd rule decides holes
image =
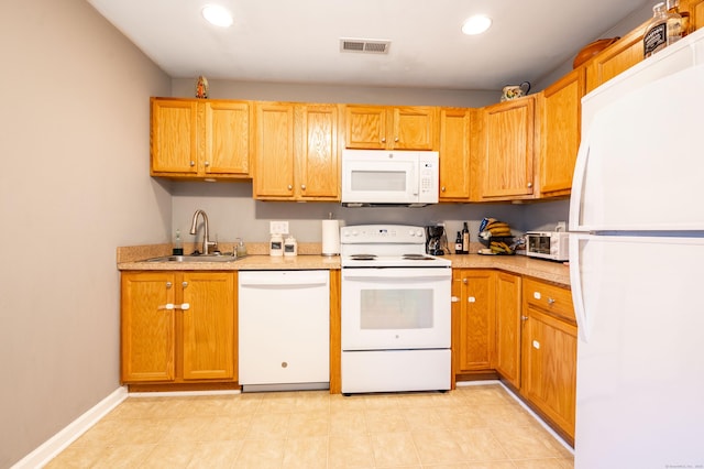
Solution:
[[[148,97],[169,78],[84,0],[0,3],[0,467],[119,388],[116,247],[163,242]]]

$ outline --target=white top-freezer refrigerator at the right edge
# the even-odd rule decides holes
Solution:
[[[582,106],[574,467],[704,468],[704,31]]]

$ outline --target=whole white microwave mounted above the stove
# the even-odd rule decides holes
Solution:
[[[342,205],[438,203],[439,156],[431,151],[344,150]]]

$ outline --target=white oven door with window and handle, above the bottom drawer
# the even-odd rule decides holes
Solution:
[[[342,269],[342,350],[450,348],[451,285],[446,268]]]

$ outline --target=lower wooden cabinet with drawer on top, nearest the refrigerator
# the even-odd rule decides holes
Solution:
[[[526,280],[520,394],[574,441],[576,325],[566,288]]]

